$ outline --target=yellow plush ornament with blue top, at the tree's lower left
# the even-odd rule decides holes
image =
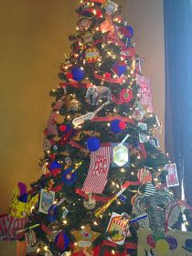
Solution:
[[[28,198],[27,189],[24,188],[26,186],[24,184],[18,186],[20,187],[20,195],[18,189],[15,188],[10,205],[10,214],[18,219],[23,219],[30,215],[31,208],[37,204],[38,195]]]

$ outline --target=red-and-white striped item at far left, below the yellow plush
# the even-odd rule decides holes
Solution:
[[[0,240],[19,240],[24,236],[23,232],[17,232],[24,229],[28,219],[17,219],[11,215],[0,216]]]

